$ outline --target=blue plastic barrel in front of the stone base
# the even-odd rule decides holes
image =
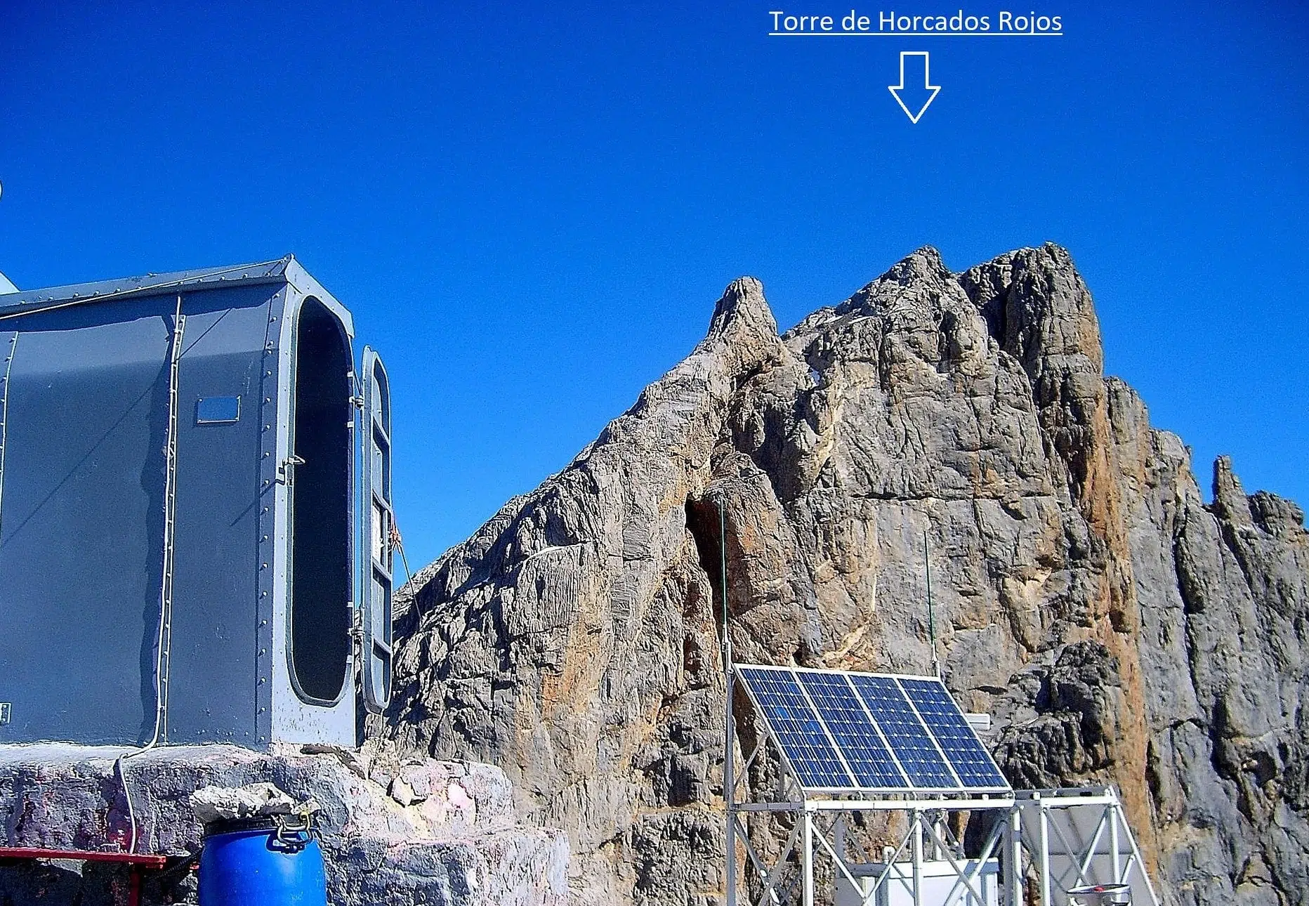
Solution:
[[[279,833],[272,821],[211,827],[200,852],[200,906],[327,906],[318,841]]]

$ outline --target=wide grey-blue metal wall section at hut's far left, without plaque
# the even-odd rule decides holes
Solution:
[[[7,322],[0,742],[153,731],[173,305]]]

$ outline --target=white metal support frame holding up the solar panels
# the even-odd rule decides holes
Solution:
[[[724,655],[729,656],[729,651]],[[729,670],[724,765],[728,906],[833,902],[835,892],[816,889],[816,877],[846,882],[859,892],[863,906],[891,899],[888,894],[915,906],[983,906],[988,902],[983,876],[992,859],[1001,868],[992,884],[1003,906],[1026,906],[1029,881],[1035,884],[1042,906],[1066,906],[1071,889],[1092,884],[1127,884],[1138,906],[1160,906],[1113,787],[1018,789],[1004,795],[805,789],[767,720],[758,721],[761,736],[754,748],[737,754],[740,736],[732,710],[737,670]],[[774,796],[754,796],[747,772],[770,746],[783,771],[780,789]],[[950,834],[949,816],[983,812],[991,818],[984,839],[965,847]],[[848,833],[856,813],[902,814],[898,844],[880,847],[880,852],[865,850],[865,842]],[[789,824],[787,839],[771,860],[761,854],[758,838],[751,839],[747,822],[770,816],[780,818],[783,827]],[[870,868],[872,863],[880,865]],[[939,886],[942,865],[950,880],[944,897]],[[936,872],[936,886],[927,881],[929,867]]]

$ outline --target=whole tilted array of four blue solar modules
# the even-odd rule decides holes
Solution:
[[[940,680],[778,666],[737,676],[806,789],[1009,789]]]

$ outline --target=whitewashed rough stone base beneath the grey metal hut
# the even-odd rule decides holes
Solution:
[[[122,749],[0,746],[0,844],[51,850],[131,846],[128,803],[114,759]],[[567,839],[525,827],[509,783],[491,765],[353,753],[262,754],[229,745],[168,746],[123,762],[136,851],[181,856],[148,873],[147,903],[196,902],[190,859],[200,814],[285,813],[319,806],[329,901],[338,906],[562,906]],[[408,796],[395,780],[407,778]],[[387,788],[391,789],[387,795]],[[105,863],[0,865],[0,903],[124,902],[127,877]]]

